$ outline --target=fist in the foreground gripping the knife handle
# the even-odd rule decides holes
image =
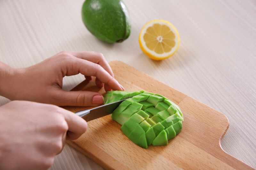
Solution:
[[[0,107],[0,169],[47,169],[66,138],[77,139],[86,129],[84,119],[58,106],[7,103]]]

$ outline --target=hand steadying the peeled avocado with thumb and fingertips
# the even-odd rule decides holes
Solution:
[[[93,106],[103,103],[102,96],[92,91],[62,90],[64,76],[84,74],[96,77],[96,85],[105,90],[124,88],[101,53],[60,52],[36,65],[13,69],[0,62],[0,95],[10,100],[28,100],[58,106]],[[1,73],[2,72],[2,73]]]

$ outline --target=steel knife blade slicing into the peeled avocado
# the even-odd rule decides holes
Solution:
[[[104,104],[92,109],[81,110],[76,112],[75,114],[82,117],[84,120],[86,120],[86,122],[88,122],[103,116],[110,115],[119,106],[119,104],[121,104],[125,100],[126,99],[113,103]]]

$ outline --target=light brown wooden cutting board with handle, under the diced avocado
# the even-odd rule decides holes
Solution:
[[[106,169],[253,169],[222,150],[220,141],[228,130],[225,115],[121,61],[109,64],[126,91],[144,89],[178,104],[184,115],[183,129],[168,145],[143,149],[108,115],[88,122],[88,130],[68,141],[69,145]],[[83,81],[73,90],[104,93],[94,81]],[[64,108],[75,112],[88,107]]]

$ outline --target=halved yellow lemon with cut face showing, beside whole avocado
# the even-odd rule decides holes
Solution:
[[[149,58],[163,60],[171,57],[180,46],[180,35],[168,21],[156,19],[145,24],[139,35],[140,48]]]

